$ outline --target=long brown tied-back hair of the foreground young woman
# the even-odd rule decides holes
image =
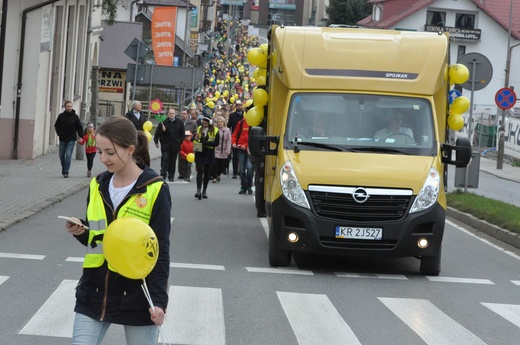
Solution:
[[[148,150],[148,138],[143,131],[138,131],[132,121],[124,116],[111,116],[96,130],[108,138],[112,144],[117,144],[125,149],[135,146],[133,157],[137,165],[150,166],[150,152]]]

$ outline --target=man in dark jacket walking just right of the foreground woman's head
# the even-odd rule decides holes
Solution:
[[[159,123],[155,130],[154,142],[159,148],[161,143],[161,176],[173,182],[177,155],[184,140],[184,123],[175,117],[175,109],[168,110],[168,118]]]

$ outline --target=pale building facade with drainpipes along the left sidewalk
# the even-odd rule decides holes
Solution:
[[[0,1],[0,159],[54,151],[54,122],[65,101],[88,120],[101,1]]]

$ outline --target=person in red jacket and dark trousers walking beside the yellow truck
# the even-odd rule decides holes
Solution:
[[[240,120],[231,137],[231,145],[238,154],[238,169],[240,172],[240,191],[238,194],[253,194],[253,164],[248,152],[249,125],[246,119]]]

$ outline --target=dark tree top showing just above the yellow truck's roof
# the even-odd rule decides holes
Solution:
[[[325,9],[330,24],[356,25],[372,13],[372,5],[367,0],[330,0]]]

